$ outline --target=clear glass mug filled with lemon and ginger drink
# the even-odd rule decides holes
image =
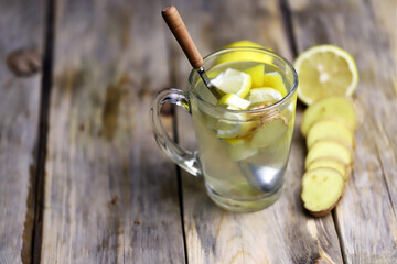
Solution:
[[[187,91],[163,89],[151,103],[160,148],[179,166],[202,177],[211,199],[229,211],[260,210],[280,196],[293,133],[298,77],[287,59],[265,48],[233,47],[204,58],[210,78],[228,67],[244,70],[260,65],[265,73],[279,75],[286,87],[285,97],[268,107],[235,110],[216,106],[217,98],[195,69],[190,73]],[[165,102],[191,113],[198,151],[182,148],[167,134],[160,120]]]

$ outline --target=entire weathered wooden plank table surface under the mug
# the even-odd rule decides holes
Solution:
[[[396,2],[0,0],[0,263],[397,263]],[[203,55],[251,40],[290,61],[324,43],[354,56],[362,124],[331,215],[302,208],[298,129],[281,198],[254,213],[217,208],[160,153],[150,100],[190,72],[170,3]],[[163,113],[194,150],[189,114]]]

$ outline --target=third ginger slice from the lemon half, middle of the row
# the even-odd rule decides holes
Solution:
[[[309,165],[320,157],[334,157],[341,160],[346,166],[353,164],[354,154],[353,150],[341,141],[336,140],[319,140],[312,147],[310,147],[304,168],[309,168]]]

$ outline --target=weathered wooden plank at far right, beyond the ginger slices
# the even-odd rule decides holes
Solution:
[[[363,123],[335,221],[346,263],[395,263],[397,98],[395,1],[290,1],[298,50],[332,43],[355,57]],[[391,12],[390,18],[387,12]],[[394,33],[390,32],[394,29]]]

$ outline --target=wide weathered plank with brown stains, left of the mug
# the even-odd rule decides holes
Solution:
[[[57,2],[42,263],[184,262],[174,166],[149,123],[169,82],[160,10]]]

